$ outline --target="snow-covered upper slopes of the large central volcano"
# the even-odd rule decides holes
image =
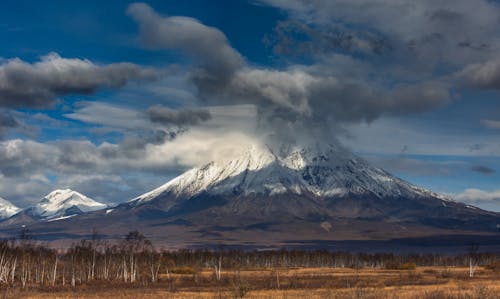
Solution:
[[[141,204],[162,194],[191,198],[202,192],[270,196],[292,193],[317,197],[431,196],[449,200],[372,167],[339,144],[307,147],[282,144],[275,148],[253,145],[236,159],[214,161],[191,169],[131,202]]]

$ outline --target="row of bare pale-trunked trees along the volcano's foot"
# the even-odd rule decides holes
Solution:
[[[393,254],[349,253],[326,250],[244,251],[224,249],[182,249],[169,251],[155,248],[143,234],[129,232],[115,244],[100,240],[97,232],[89,239],[74,243],[68,249],[56,250],[36,242],[27,231],[19,238],[0,241],[0,284],[13,286],[73,287],[96,281],[121,283],[157,283],[173,273],[193,274],[212,269],[215,280],[223,271],[249,268],[386,268],[403,265],[469,266],[489,265],[500,260],[499,253]]]

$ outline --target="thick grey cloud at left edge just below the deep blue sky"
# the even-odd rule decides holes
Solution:
[[[57,53],[32,64],[14,58],[0,64],[0,107],[47,107],[59,96],[91,94],[156,76],[154,70],[132,63],[97,65],[85,59],[62,58]]]

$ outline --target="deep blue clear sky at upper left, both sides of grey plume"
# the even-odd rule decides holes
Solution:
[[[2,56],[33,61],[55,51],[64,57],[103,63],[132,61],[158,66],[176,62],[180,58],[176,53],[148,51],[137,43],[137,25],[125,14],[133,2],[5,1],[0,12]],[[190,16],[220,28],[252,62],[272,63],[272,52],[262,46],[262,38],[285,16],[276,9],[245,1],[148,3],[165,14]]]

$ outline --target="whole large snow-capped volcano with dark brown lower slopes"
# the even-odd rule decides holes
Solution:
[[[500,214],[414,186],[337,143],[282,144],[250,146],[114,208],[32,229],[56,239],[91,227],[108,238],[138,229],[173,247],[317,247],[345,240],[498,239]]]

